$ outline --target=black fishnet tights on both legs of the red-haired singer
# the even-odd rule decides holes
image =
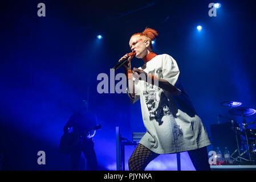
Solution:
[[[190,150],[188,154],[197,171],[210,171],[206,147]],[[159,155],[139,143],[128,160],[129,171],[144,171],[148,164]]]

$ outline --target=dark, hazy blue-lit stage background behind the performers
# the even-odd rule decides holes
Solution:
[[[40,2],[46,5],[45,17],[37,15]],[[102,125],[95,135],[99,169],[115,170],[115,127],[128,139],[132,132],[144,132],[140,103],[131,105],[127,94],[97,93],[96,78],[99,73],[109,75],[130,51],[130,36],[145,27],[159,32],[154,52],[177,61],[184,89],[210,138],[218,114],[242,123],[221,102],[240,101],[256,108],[254,1],[220,1],[217,17],[208,16],[211,2],[2,1],[2,169],[70,169],[70,156],[60,154],[59,140],[67,120],[88,97]],[[103,39],[96,38],[99,34]],[[142,64],[132,60],[132,67]],[[46,165],[36,162],[40,150],[46,152]],[[188,164],[184,169],[193,170],[188,156],[182,156],[181,165]],[[168,160],[173,165],[161,166]],[[159,168],[149,169],[175,169],[175,156],[164,156],[157,164]]]

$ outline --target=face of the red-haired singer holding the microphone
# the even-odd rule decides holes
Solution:
[[[132,36],[129,42],[129,46],[137,58],[143,58],[147,55],[147,47],[141,36]]]

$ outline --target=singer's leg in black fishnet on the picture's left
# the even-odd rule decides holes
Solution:
[[[144,171],[148,164],[159,154],[152,152],[142,144],[138,144],[128,160],[129,171]]]

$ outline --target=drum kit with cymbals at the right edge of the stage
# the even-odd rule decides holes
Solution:
[[[234,131],[237,142],[237,149],[230,155],[231,159],[233,159],[233,163],[255,164],[256,129],[248,129],[248,125],[255,124],[256,119],[253,122],[247,123],[246,118],[255,114],[256,110],[249,107],[238,107],[242,105],[242,103],[236,101],[225,101],[222,102],[221,105],[231,108],[229,109],[231,115],[240,116],[242,118],[242,129],[237,122],[231,119],[232,130]]]

